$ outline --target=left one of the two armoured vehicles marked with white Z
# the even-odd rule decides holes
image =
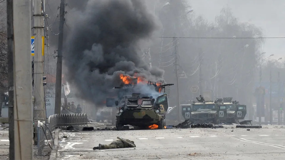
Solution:
[[[192,101],[191,105],[182,106],[182,115],[185,119],[190,119],[194,123],[214,123],[218,124],[218,106],[213,101],[205,101],[204,97],[196,97],[198,102]]]

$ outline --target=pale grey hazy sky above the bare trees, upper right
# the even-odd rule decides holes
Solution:
[[[196,16],[203,15],[213,22],[220,10],[229,6],[240,22],[248,22],[262,29],[264,37],[285,37],[285,0],[188,0]],[[266,39],[266,56],[284,58],[285,39]]]

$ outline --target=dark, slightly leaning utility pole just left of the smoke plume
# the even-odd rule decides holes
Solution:
[[[61,73],[62,73],[62,48],[63,48],[63,26],[65,21],[65,0],[61,0],[59,9],[59,35],[56,64],[56,97],[54,104],[54,114],[60,114],[61,107]]]

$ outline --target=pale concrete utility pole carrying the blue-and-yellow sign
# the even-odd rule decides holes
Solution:
[[[34,120],[46,121],[44,97],[44,14],[42,0],[34,1]]]

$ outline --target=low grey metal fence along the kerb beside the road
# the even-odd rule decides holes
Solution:
[[[48,118],[48,123],[37,121],[37,148],[38,154],[42,153],[42,149],[48,142],[53,141],[53,135],[50,132],[58,127],[68,126],[84,126],[88,124],[86,113],[82,114],[54,114]],[[51,146],[53,148],[53,146]]]

